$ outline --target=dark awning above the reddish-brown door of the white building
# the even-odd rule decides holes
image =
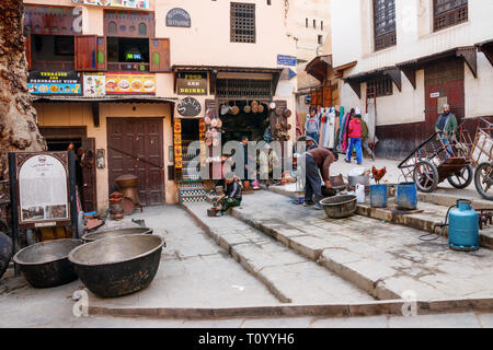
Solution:
[[[416,70],[424,69],[428,63],[449,57],[462,58],[474,78],[478,77],[478,52],[475,46],[456,47],[443,52],[401,62],[395,66],[405,74],[405,77],[408,77],[413,88],[416,89]]]

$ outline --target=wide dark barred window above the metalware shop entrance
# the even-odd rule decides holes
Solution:
[[[216,96],[227,98],[271,98],[272,81],[253,79],[218,79]]]

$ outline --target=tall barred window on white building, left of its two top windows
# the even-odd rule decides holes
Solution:
[[[374,0],[375,50],[397,44],[395,0]]]

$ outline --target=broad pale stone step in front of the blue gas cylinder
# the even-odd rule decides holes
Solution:
[[[328,219],[282,195],[259,191],[232,214],[378,299],[493,296],[493,252],[454,252],[447,240],[362,215]]]

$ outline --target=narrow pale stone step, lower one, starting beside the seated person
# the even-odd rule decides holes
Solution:
[[[207,217],[209,203],[183,203],[182,207],[283,303],[375,301],[365,291],[242,221],[229,214]]]

